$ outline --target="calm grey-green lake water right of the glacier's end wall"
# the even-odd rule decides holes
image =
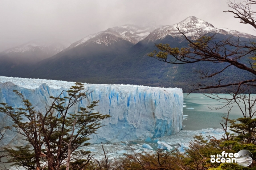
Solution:
[[[225,107],[220,110],[211,110],[209,107],[224,106],[218,100],[211,99],[204,94],[200,93],[183,93],[184,105],[183,114],[188,115],[185,117],[187,120],[183,120],[183,130],[200,130],[203,128],[219,128],[220,122],[223,121],[222,117],[227,113],[228,108]],[[230,94],[218,94],[220,97],[231,98]],[[243,117],[239,107],[234,104],[229,114],[229,119],[237,119]]]

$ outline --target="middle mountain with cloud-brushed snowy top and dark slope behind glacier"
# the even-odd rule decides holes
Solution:
[[[32,71],[19,71],[15,75],[70,80],[102,76],[102,72],[109,74],[109,63],[129,54],[130,48],[154,29],[152,25],[143,27],[131,24],[109,28],[89,35],[51,58],[31,66]],[[12,73],[8,72],[4,76],[12,76]]]

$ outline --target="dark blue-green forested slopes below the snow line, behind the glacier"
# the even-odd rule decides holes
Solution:
[[[218,38],[223,39],[225,37],[220,34]],[[178,87],[182,88],[183,92],[189,92],[194,88],[193,85],[198,84],[198,82],[216,83],[219,79],[223,79],[223,82],[229,82],[232,78],[242,80],[250,76],[240,69],[231,67],[219,77],[200,80],[200,75],[196,73],[196,70],[211,68],[214,71],[220,65],[208,62],[183,65],[160,62],[147,56],[149,52],[155,50],[155,43],[168,43],[171,47],[186,47],[188,44],[183,37],[166,36],[162,40],[150,43],[141,41],[135,45],[127,41],[118,41],[111,46],[102,44],[78,46],[71,50],[64,50],[36,65],[16,67],[4,76],[94,84]],[[248,59],[244,59],[244,62],[248,62]],[[217,92],[227,92],[227,89]]]

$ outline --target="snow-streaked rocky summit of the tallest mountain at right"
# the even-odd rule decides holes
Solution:
[[[155,41],[157,39],[163,39],[167,35],[182,36],[182,34],[178,31],[177,27],[183,34],[185,34],[187,37],[190,37],[191,39],[197,39],[207,33],[229,34],[229,35],[240,36],[245,38],[254,37],[253,35],[242,33],[235,30],[229,30],[227,28],[215,28],[212,24],[204,20],[201,20],[194,16],[190,16],[177,24],[166,25],[152,31],[145,38],[145,40],[147,42]]]

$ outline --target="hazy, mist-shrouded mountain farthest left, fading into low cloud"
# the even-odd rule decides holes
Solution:
[[[0,74],[12,75],[20,71],[29,72],[33,64],[59,53],[66,47],[65,42],[34,40],[9,48],[0,52]]]

